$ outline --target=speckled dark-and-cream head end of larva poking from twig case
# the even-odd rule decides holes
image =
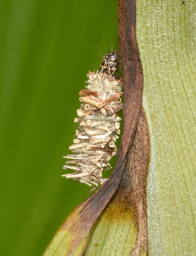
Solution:
[[[117,62],[119,57],[118,51],[108,52],[101,61],[100,72],[114,75],[120,69],[121,61]]]

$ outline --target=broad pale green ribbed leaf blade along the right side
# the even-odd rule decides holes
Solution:
[[[196,255],[196,4],[137,0],[153,162],[149,255]]]

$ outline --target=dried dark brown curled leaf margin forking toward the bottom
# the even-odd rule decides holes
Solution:
[[[143,114],[141,114],[141,120],[143,121],[140,121],[138,124],[143,95],[143,71],[135,33],[135,0],[118,1],[118,18],[119,50],[124,79],[124,129],[118,159],[110,178],[104,182],[94,195],[78,206],[58,230],[48,250],[50,250],[50,247],[54,247],[55,243],[59,243],[59,245],[56,245],[57,249],[55,253],[58,252],[58,250],[63,250],[64,252],[64,254],[59,255],[82,255],[95,221],[115,194],[116,190],[123,189],[124,187],[130,188],[130,194],[133,193],[129,200],[135,208],[138,226],[136,246],[131,255],[136,256],[142,251],[147,251],[145,202],[147,162],[145,161],[147,161],[148,158],[149,145],[144,142],[148,140],[147,125],[145,125]],[[141,129],[141,132],[139,133],[139,139],[132,144],[137,125],[139,127],[138,131]],[[135,143],[139,143],[139,148],[144,150],[144,152],[142,151],[143,153],[137,151],[137,145],[135,145]],[[141,163],[140,161],[141,169],[138,168],[139,164],[137,161],[140,158],[138,154],[141,154],[141,157],[145,159],[145,163]],[[60,241],[61,234],[63,234],[63,239],[66,239],[66,241]],[[58,238],[60,239],[59,242],[57,242]],[[62,243],[63,249],[61,248]],[[58,255],[55,253],[51,255]],[[47,254],[47,250],[45,256],[46,255],[49,255]]]

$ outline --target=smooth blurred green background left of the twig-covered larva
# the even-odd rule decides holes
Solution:
[[[88,197],[61,177],[63,156],[88,70],[118,49],[117,22],[117,0],[0,1],[0,255],[41,256]]]

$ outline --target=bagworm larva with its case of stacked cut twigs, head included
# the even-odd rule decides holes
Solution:
[[[118,113],[123,108],[123,82],[119,76],[115,76],[119,70],[118,58],[117,51],[108,52],[102,59],[101,72],[89,71],[87,90],[79,93],[82,104],[74,120],[79,124],[76,138],[69,147],[74,154],[64,157],[70,160],[63,169],[72,169],[74,172],[62,176],[89,186],[94,185],[92,191],[98,183],[104,183],[106,179],[102,177],[102,171],[112,168],[108,161],[117,154],[115,141],[120,134],[121,121]]]

